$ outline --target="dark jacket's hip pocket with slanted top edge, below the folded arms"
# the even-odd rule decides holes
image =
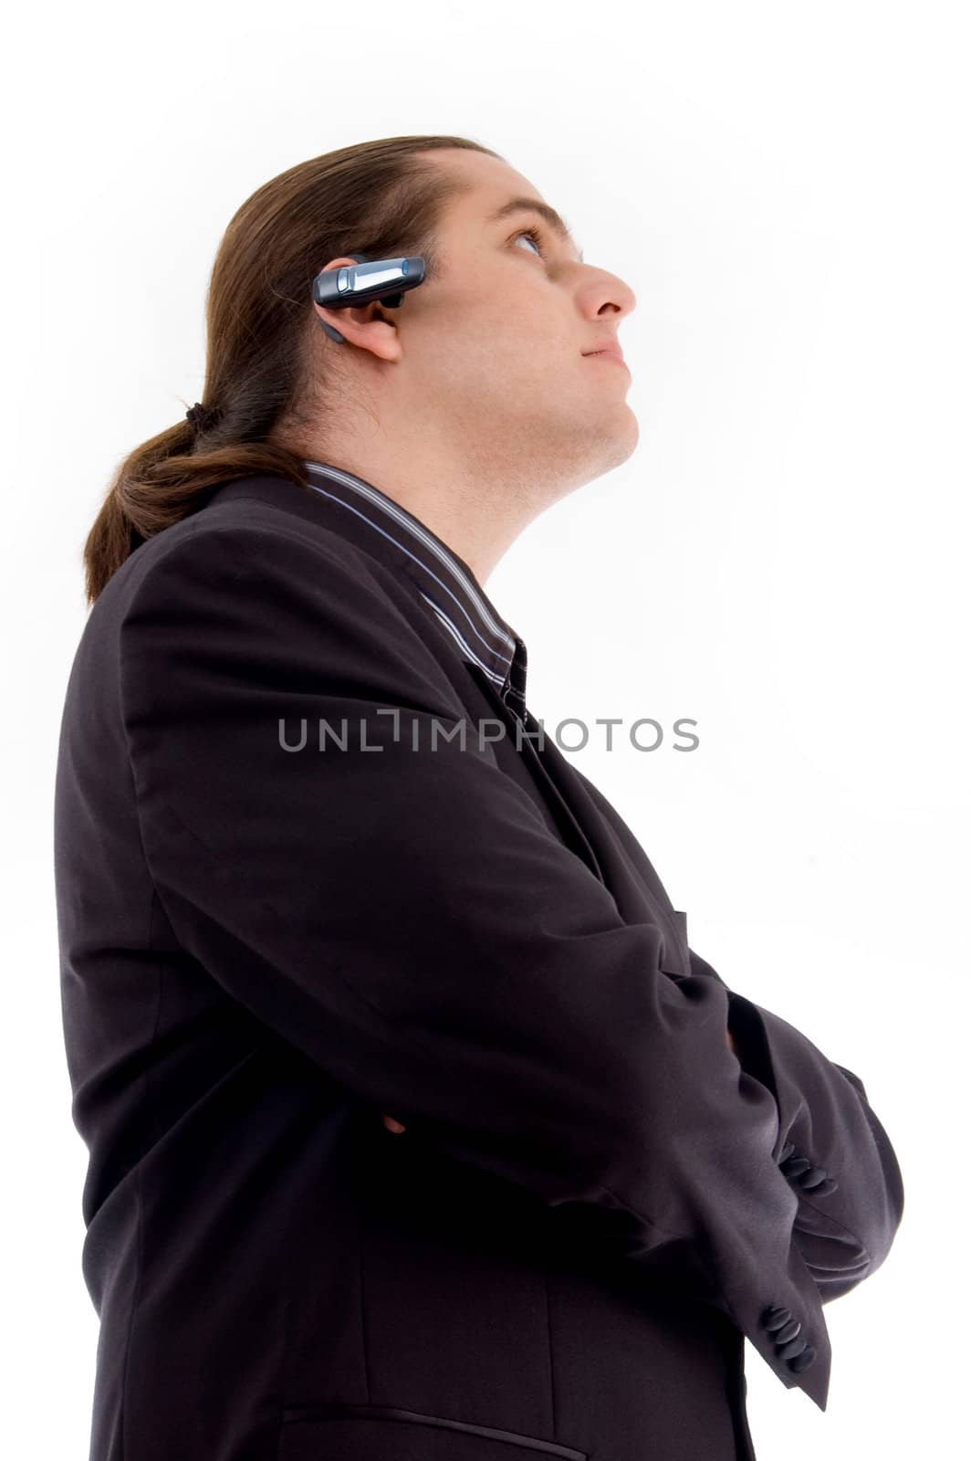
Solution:
[[[425,1416],[394,1405],[288,1405],[277,1461],[587,1461],[586,1451],[517,1430]]]

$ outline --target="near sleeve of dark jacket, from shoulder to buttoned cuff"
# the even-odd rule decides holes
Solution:
[[[123,717],[180,942],[349,1094],[549,1205],[584,1204],[625,1259],[680,1255],[759,1343],[759,1306],[806,1289],[777,1102],[729,1050],[727,989],[661,973],[661,931],[623,920],[475,722],[460,744],[444,671],[362,564],[203,526],[136,586]],[[432,749],[434,722],[453,735]],[[854,1157],[861,1107],[826,1116]]]

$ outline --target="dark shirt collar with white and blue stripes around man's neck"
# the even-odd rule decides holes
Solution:
[[[463,659],[492,681],[504,703],[526,719],[526,644],[488,598],[469,564],[406,507],[345,468],[305,460],[307,485],[340,503],[387,539],[403,571],[447,630]]]

